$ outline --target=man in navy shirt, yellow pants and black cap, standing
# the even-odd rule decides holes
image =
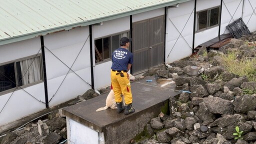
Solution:
[[[122,37],[120,39],[120,48],[112,53],[111,66],[111,85],[114,92],[114,99],[117,104],[117,113],[124,110],[124,114],[135,111],[132,105],[132,94],[130,88],[129,74],[133,62],[133,54],[128,50],[131,38]],[[125,107],[122,106],[121,93],[124,95]]]

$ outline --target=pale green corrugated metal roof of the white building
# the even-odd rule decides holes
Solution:
[[[0,0],[0,45],[189,0]]]

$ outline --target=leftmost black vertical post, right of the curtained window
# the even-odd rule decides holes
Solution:
[[[45,107],[49,108],[43,36],[40,36],[40,40],[41,40],[41,50],[42,50],[42,67],[43,67],[43,83],[44,83]]]

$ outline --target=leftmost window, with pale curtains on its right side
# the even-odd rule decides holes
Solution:
[[[0,92],[42,80],[41,55],[0,64]]]

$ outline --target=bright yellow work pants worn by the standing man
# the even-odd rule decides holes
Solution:
[[[117,71],[111,70],[111,84],[114,91],[114,100],[115,102],[121,102],[122,97],[121,93],[124,96],[125,104],[132,103],[132,94],[130,89],[130,80],[128,78],[128,73],[123,72],[123,77],[121,77],[121,73]]]

